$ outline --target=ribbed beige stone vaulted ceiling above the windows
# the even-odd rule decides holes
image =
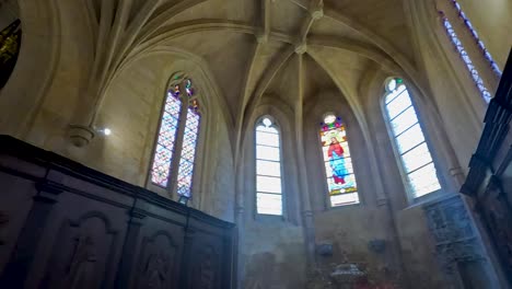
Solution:
[[[415,70],[404,1],[90,0],[94,81],[88,90],[101,94],[119,68],[173,47],[208,67],[233,124],[264,94],[294,105],[299,81],[303,101],[339,83],[340,94],[357,97],[372,62],[397,73]],[[165,77],[168,61],[150,69]],[[148,69],[130,69],[138,67]]]

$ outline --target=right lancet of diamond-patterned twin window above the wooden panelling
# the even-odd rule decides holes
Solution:
[[[199,134],[199,114],[194,108],[188,108],[177,175],[177,193],[188,198],[191,197],[191,181],[196,159],[197,137]]]

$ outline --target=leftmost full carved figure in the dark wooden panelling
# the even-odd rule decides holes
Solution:
[[[93,288],[97,254],[91,236],[77,236],[74,250],[67,268],[67,287],[70,289]]]

